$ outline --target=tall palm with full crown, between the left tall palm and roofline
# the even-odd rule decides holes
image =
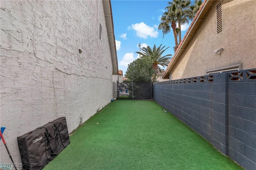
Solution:
[[[181,25],[189,23],[189,19],[192,18],[191,11],[189,9],[191,1],[190,0],[173,0],[168,2],[168,17],[176,18],[179,25],[179,43],[181,42]]]

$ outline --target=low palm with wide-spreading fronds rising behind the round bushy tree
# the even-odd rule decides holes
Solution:
[[[143,58],[150,58],[152,59],[153,62],[153,68],[154,70],[156,70],[156,73],[158,72],[158,70],[162,73],[160,66],[168,66],[168,64],[170,63],[170,57],[168,56],[172,56],[171,54],[168,55],[164,55],[161,56],[164,51],[166,51],[166,49],[168,49],[169,47],[167,47],[166,49],[164,49],[164,47],[162,47],[162,44],[156,48],[156,45],[154,45],[153,49],[151,49],[149,46],[147,48],[143,47],[141,50],[142,52],[136,52],[137,54],[140,54]],[[158,66],[160,65],[160,66]]]

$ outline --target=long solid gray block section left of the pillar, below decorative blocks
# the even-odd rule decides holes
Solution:
[[[213,129],[212,96],[210,82],[154,85],[154,101],[209,141]]]

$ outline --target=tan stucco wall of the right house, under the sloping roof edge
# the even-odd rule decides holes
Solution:
[[[222,1],[223,31],[216,33],[216,1],[170,71],[170,80],[205,75],[206,70],[242,64],[256,68],[256,1]],[[223,48],[220,55],[214,53]]]

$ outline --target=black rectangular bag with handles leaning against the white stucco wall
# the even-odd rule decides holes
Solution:
[[[66,117],[60,117],[17,139],[23,169],[41,170],[70,143]]]

